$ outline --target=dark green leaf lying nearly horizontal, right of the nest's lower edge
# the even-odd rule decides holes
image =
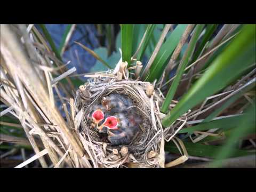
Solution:
[[[211,145],[203,145],[201,143],[191,143],[191,142],[183,142],[187,151],[188,155],[190,156],[198,156],[198,157],[208,157],[208,158],[216,158],[216,155],[219,151],[223,150],[223,147],[219,146],[211,146]],[[165,145],[165,150],[170,151],[171,153],[179,154],[179,149],[175,146],[173,142],[168,142]],[[231,149],[232,155],[229,157],[239,157],[245,155],[252,155],[246,150],[239,150],[239,149]]]

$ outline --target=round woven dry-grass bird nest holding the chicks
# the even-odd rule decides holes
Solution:
[[[163,129],[159,111],[161,97],[149,82],[118,78],[109,71],[93,75],[76,93],[76,127],[94,167],[164,167],[164,140],[173,136],[172,127]],[[113,146],[92,129],[90,114],[103,97],[117,93],[129,97],[142,119],[140,130],[129,145]]]

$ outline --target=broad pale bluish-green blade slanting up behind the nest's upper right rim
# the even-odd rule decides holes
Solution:
[[[154,82],[155,79],[159,79],[163,74],[168,59],[171,57],[175,47],[180,41],[182,34],[184,33],[187,25],[178,25],[166,39],[166,41],[161,46],[159,52],[153,61],[149,72],[146,74],[145,81]]]

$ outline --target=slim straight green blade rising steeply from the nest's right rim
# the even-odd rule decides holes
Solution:
[[[188,49],[187,49],[184,57],[182,58],[180,65],[177,69],[177,75],[174,78],[174,81],[173,81],[173,83],[166,95],[166,98],[164,100],[163,106],[161,108],[162,113],[166,113],[168,110],[168,107],[169,107],[169,105],[174,97],[174,94],[177,91],[177,88],[179,86],[180,79],[184,73],[184,70],[185,70],[188,62],[189,62],[191,54],[193,53],[193,51],[195,49],[197,39],[198,39],[199,35],[201,34],[203,28],[204,28],[204,25],[201,25],[201,24],[197,25],[195,28],[195,33],[193,34],[193,36],[190,39],[190,42],[188,44]]]

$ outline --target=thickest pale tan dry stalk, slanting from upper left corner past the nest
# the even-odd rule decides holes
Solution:
[[[8,67],[17,73],[30,94],[33,95],[38,106],[52,119],[54,124],[60,126],[60,130],[68,138],[71,146],[76,150],[79,156],[82,157],[84,152],[78,144],[79,141],[75,140],[59,111],[51,106],[50,99],[41,79],[36,75],[37,73],[34,70],[34,66],[31,65],[26,53],[22,51],[21,42],[7,25],[1,26],[1,52]],[[17,65],[17,63],[19,63],[19,65]],[[37,82],[36,86],[31,82]]]

